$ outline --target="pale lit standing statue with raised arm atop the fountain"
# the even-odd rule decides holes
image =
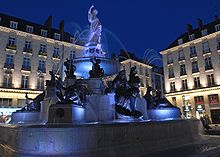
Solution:
[[[102,25],[99,19],[96,17],[98,10],[92,5],[88,11],[88,20],[90,22],[90,34],[88,45],[97,46],[100,44]]]

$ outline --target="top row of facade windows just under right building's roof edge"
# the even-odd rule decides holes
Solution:
[[[209,42],[206,41],[204,43],[202,43],[202,47],[203,47],[203,54],[207,54],[210,53],[210,47],[209,47]],[[217,50],[220,49],[220,38],[217,38]],[[196,57],[197,56],[197,50],[195,46],[191,46],[190,47],[190,58]],[[185,60],[185,54],[183,50],[179,50],[178,51],[178,61],[182,61]],[[173,54],[172,53],[168,53],[167,54],[167,64],[171,64],[173,63]]]

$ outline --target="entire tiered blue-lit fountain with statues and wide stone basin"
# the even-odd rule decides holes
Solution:
[[[91,30],[98,27],[85,48],[90,69],[78,78],[83,58],[67,59],[64,82],[51,71],[45,92],[32,103],[27,95],[26,106],[12,114],[11,123],[0,125],[2,156],[136,157],[200,139],[198,120],[180,119],[178,108],[162,105],[150,92],[140,97],[136,67],[128,80],[124,70],[111,68],[116,61],[101,51],[97,13],[94,6],[89,9]],[[106,79],[109,74],[115,74],[113,79]]]

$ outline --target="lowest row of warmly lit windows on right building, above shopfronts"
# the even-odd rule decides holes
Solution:
[[[214,80],[214,75],[213,74],[209,74],[207,75],[207,85],[209,87],[214,86],[215,85],[215,80]],[[199,77],[194,77],[194,88],[200,88],[201,84],[200,84],[200,78]],[[182,80],[182,88],[181,90],[187,90],[188,89],[188,83],[187,83],[187,79],[183,79]],[[170,92],[175,92],[176,91],[176,85],[175,82],[172,81],[170,82]]]

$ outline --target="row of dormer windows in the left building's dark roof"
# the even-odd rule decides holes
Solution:
[[[18,22],[15,21],[10,21],[10,28],[12,29],[18,29]],[[34,32],[34,27],[33,26],[26,26],[26,32],[28,33],[33,33]],[[40,35],[43,37],[48,36],[48,31],[45,29],[41,29]],[[54,33],[54,39],[55,40],[60,40],[60,34],[59,33]],[[73,43],[73,38],[70,38],[70,43]]]

